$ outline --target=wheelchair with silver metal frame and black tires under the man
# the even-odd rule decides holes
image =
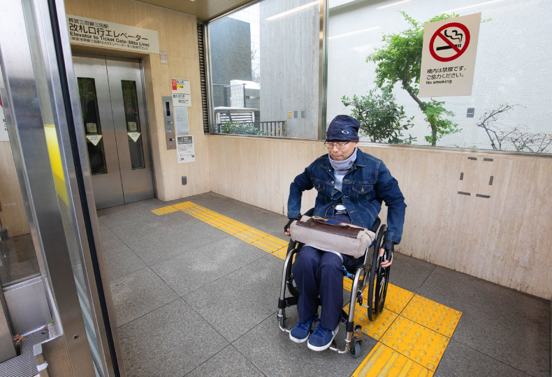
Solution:
[[[310,209],[305,215],[312,216],[314,209]],[[373,321],[382,313],[385,304],[387,293],[387,285],[389,282],[389,272],[391,266],[383,268],[381,266],[383,260],[389,260],[391,255],[379,257],[379,249],[381,248],[387,226],[382,225],[381,219],[377,218],[374,225],[370,229],[376,234],[375,242],[366,249],[364,256],[358,258],[356,267],[345,269],[345,277],[351,279],[351,299],[349,300],[349,313],[342,311],[342,323],[345,323],[345,348],[340,350],[337,348],[335,339],[332,342],[330,350],[344,354],[350,352],[352,357],[361,355],[362,346],[362,326],[354,325],[354,313],[356,304],[368,310],[368,319]],[[289,333],[291,329],[286,329],[286,308],[298,303],[299,292],[296,288],[291,265],[293,264],[294,256],[300,252],[303,244],[295,242],[292,239],[289,241],[286,259],[284,260],[284,269],[282,272],[282,289],[280,290],[278,300],[278,325],[282,332]],[[289,291],[286,297],[286,288]],[[365,290],[368,288],[367,304],[363,304]],[[312,330],[311,330],[312,332]]]

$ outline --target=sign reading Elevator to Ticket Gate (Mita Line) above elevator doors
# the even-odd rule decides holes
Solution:
[[[157,30],[67,15],[71,43],[159,54]]]

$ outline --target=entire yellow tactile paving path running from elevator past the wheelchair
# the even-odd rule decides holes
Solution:
[[[152,210],[157,215],[177,211],[194,216],[277,258],[286,258],[288,242],[193,202]],[[344,289],[350,291],[351,285],[351,280],[344,278]],[[364,304],[365,297],[368,295],[364,295]],[[348,306],[344,309],[347,310]],[[378,343],[353,376],[433,376],[460,316],[460,311],[389,283],[384,311],[375,321],[368,320],[368,313],[362,306],[355,308],[355,323]]]

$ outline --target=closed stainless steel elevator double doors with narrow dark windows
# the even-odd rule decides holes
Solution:
[[[154,197],[140,61],[73,55],[96,208]]]

